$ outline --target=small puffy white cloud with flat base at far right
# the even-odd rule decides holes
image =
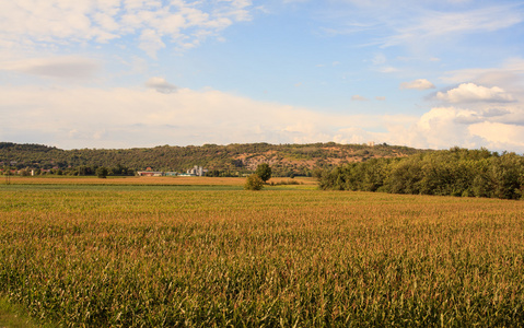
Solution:
[[[475,83],[463,83],[446,92],[438,92],[436,98],[449,103],[508,103],[513,96],[498,86],[486,87]]]

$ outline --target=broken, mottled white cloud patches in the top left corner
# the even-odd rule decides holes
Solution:
[[[0,43],[38,45],[97,44],[132,35],[155,57],[165,43],[198,45],[235,22],[251,20],[252,2],[234,1],[63,1],[0,2]]]

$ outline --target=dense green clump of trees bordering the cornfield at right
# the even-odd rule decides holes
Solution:
[[[380,159],[324,171],[322,189],[524,198],[524,157],[453,148],[405,159]]]

